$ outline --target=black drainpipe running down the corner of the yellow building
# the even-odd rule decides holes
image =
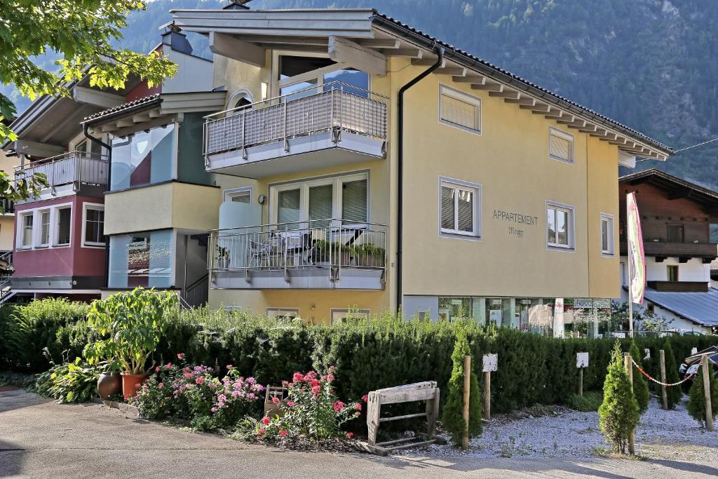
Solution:
[[[444,61],[444,47],[434,47],[437,52],[437,62],[422,72],[419,76],[406,83],[399,89],[397,102],[397,118],[398,133],[396,135],[396,159],[397,174],[396,181],[398,184],[398,192],[396,197],[396,312],[401,312],[401,243],[403,241],[404,229],[404,93],[412,86],[429,76],[434,70],[437,70]]]

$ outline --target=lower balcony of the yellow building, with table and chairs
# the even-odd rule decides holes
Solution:
[[[210,231],[210,287],[383,289],[386,225],[348,220]]]

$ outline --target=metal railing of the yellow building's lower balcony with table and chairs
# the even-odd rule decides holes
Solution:
[[[213,230],[208,255],[213,272],[320,268],[384,271],[386,225],[329,219]]]

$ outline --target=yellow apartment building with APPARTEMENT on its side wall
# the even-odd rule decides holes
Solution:
[[[225,92],[194,159],[217,206],[164,186],[123,216],[216,218],[210,306],[605,332],[587,318],[619,295],[618,166],[671,149],[370,9],[232,6],[172,11]]]

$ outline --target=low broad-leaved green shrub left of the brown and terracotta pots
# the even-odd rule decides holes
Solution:
[[[97,393],[99,377],[100,373],[95,368],[76,358],[73,363],[53,366],[40,374],[34,390],[60,403],[87,402]]]

